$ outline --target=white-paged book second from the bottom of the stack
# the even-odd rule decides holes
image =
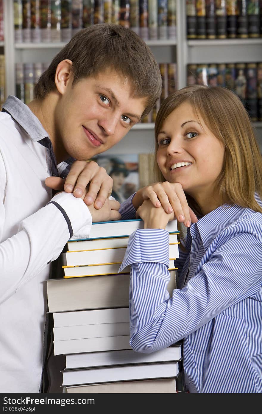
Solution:
[[[91,368],[77,371],[70,370],[62,371],[62,385],[94,384],[152,378],[175,378],[178,373],[178,362]]]

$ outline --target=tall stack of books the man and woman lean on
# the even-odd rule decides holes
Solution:
[[[176,392],[181,344],[151,354],[130,347],[130,269],[118,274],[133,231],[142,220],[95,223],[89,239],[71,240],[62,253],[64,277],[47,282],[54,354],[65,355],[65,392]],[[176,222],[168,224],[170,282],[175,289]]]

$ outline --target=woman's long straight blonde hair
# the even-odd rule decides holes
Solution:
[[[255,192],[262,198],[262,157],[248,113],[238,96],[223,87],[187,86],[169,95],[163,102],[155,123],[156,181],[166,181],[156,162],[157,136],[164,120],[182,103],[192,105],[197,116],[214,136],[224,144],[224,165],[216,180],[216,190],[223,204],[237,204],[261,212]],[[200,213],[191,197],[190,207]]]

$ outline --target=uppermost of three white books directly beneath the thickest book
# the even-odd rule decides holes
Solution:
[[[129,322],[129,308],[53,313],[54,327]]]

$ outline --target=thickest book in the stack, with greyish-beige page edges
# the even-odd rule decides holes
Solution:
[[[175,271],[171,270],[167,291],[175,289]],[[130,274],[73,277],[47,280],[48,311],[65,312],[129,306]]]

